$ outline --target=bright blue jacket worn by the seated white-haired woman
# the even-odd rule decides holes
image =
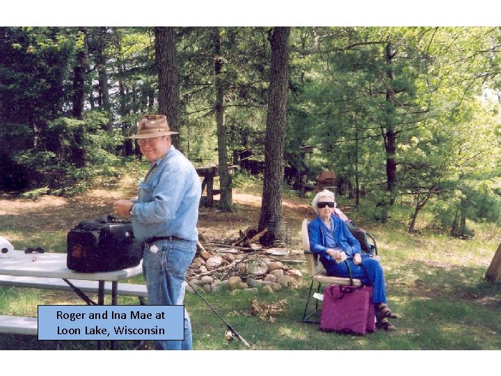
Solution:
[[[342,221],[340,217],[337,217],[337,215],[331,215],[331,219],[334,224],[335,240],[344,253],[351,258],[355,253],[362,253],[360,243],[351,235],[344,221]],[[326,253],[328,249],[328,247],[324,245],[326,244],[326,234],[322,227],[320,217],[313,219],[310,224],[308,224],[308,237],[310,238],[310,251],[319,253],[322,264],[325,261],[329,263],[335,262],[334,258]]]

